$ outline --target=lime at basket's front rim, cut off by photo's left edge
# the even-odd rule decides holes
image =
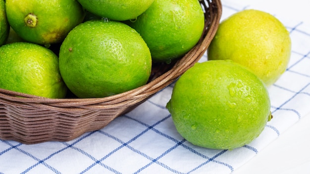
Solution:
[[[47,97],[64,98],[58,58],[49,49],[24,42],[0,47],[0,88]]]

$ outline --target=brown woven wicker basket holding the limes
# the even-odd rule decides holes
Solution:
[[[200,0],[205,31],[188,54],[176,62],[154,64],[149,82],[128,92],[95,99],[48,99],[0,89],[0,139],[25,144],[69,141],[98,130],[171,84],[206,52],[221,17],[220,0]]]

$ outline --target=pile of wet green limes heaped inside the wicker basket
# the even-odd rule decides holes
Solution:
[[[205,24],[198,0],[0,2],[0,88],[50,98],[67,88],[100,98],[145,85],[153,62],[181,58]]]

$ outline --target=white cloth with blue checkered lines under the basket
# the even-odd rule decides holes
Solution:
[[[265,10],[284,23],[292,39],[288,68],[269,88],[274,117],[250,144],[228,151],[186,141],[165,109],[170,85],[101,130],[69,142],[25,145],[0,140],[0,174],[230,174],[310,113],[310,23],[294,17],[300,11],[290,6],[296,3],[273,0],[266,1],[272,3],[268,6],[262,1],[222,0],[222,19],[243,9]],[[206,60],[205,55],[200,61]]]

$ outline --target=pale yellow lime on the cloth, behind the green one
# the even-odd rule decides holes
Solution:
[[[237,12],[218,27],[208,48],[208,59],[231,59],[249,67],[267,85],[286,70],[291,56],[290,33],[269,13]]]

